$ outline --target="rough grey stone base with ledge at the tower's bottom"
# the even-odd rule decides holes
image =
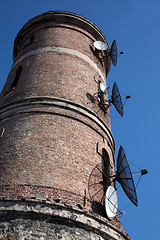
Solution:
[[[41,201],[0,201],[0,239],[131,238],[103,218],[76,207]]]

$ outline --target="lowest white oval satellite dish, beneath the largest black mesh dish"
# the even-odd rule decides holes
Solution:
[[[118,209],[117,193],[114,187],[109,186],[105,195],[105,209],[107,216],[112,219],[116,216]]]

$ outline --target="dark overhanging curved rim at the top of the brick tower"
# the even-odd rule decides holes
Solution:
[[[109,47],[108,41],[102,31],[87,18],[67,11],[49,11],[30,19],[18,32],[14,41],[13,61],[15,60],[16,55],[21,47],[21,43],[28,32],[30,32],[35,27],[35,25],[49,20],[55,20],[57,23],[69,23],[79,26],[88,31],[96,40],[104,41]]]

